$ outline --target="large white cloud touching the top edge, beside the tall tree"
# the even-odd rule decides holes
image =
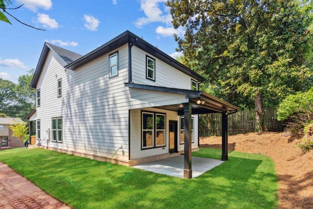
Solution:
[[[143,25],[153,22],[170,24],[173,19],[169,10],[165,7],[166,1],[167,0],[140,0],[140,9],[144,11],[146,17],[138,18],[135,22],[135,26],[141,28]],[[159,8],[160,3],[164,5],[166,14],[163,14],[162,10]]]

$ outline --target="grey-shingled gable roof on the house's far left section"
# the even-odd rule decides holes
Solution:
[[[43,51],[41,52],[33,80],[31,81],[30,88],[36,89],[37,82],[39,80],[40,74],[43,70],[44,64],[45,64],[45,59],[49,53],[49,51],[53,51],[55,54],[57,54],[63,61],[64,63],[62,66],[66,66],[67,64],[73,62],[74,60],[77,60],[80,58],[82,55],[77,54],[75,52],[69,51],[65,48],[61,48],[59,46],[55,46],[53,44],[45,42]]]

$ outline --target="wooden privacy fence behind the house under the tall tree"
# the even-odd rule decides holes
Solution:
[[[200,136],[220,136],[222,133],[222,114],[200,115]],[[228,134],[245,134],[254,132],[255,111],[253,109],[239,111],[228,116]],[[282,123],[277,120],[276,108],[264,110],[264,130],[282,131]]]

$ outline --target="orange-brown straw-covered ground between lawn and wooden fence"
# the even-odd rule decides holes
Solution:
[[[313,209],[313,151],[303,155],[294,148],[298,141],[286,133],[239,134],[228,136],[228,149],[260,153],[275,162],[280,209]],[[200,146],[221,148],[222,138],[201,138]]]

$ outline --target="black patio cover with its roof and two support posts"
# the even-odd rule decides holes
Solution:
[[[149,86],[143,84],[125,83],[126,87],[157,91],[164,93],[183,94],[186,101],[181,104],[170,104],[158,106],[155,108],[176,111],[179,116],[184,116],[184,174],[186,179],[192,178],[191,169],[191,115],[199,114],[222,114],[222,161],[228,160],[228,136],[227,136],[227,115],[237,112],[238,107],[229,104],[215,96],[203,91],[176,89],[159,86]],[[187,100],[188,99],[188,100]]]

